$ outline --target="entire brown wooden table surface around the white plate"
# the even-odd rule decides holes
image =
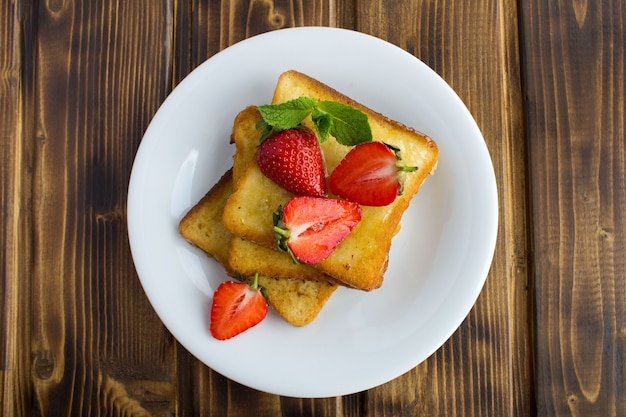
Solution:
[[[142,291],[125,213],[176,84],[308,25],[439,73],[484,134],[500,204],[458,331],[405,375],[325,399],[252,390],[186,352]],[[6,0],[0,27],[3,416],[626,416],[626,2]]]

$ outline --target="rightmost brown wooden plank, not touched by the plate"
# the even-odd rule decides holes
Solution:
[[[626,415],[626,5],[521,5],[537,414]]]

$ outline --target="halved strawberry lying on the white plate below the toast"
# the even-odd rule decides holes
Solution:
[[[226,281],[213,295],[211,334],[219,340],[230,339],[259,324],[267,315],[267,301],[258,287],[258,275],[252,284]]]

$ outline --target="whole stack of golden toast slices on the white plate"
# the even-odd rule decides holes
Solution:
[[[297,71],[280,75],[272,103],[301,96],[331,100],[363,111],[373,140],[402,150],[407,165],[418,170],[406,176],[403,193],[383,207],[362,207],[362,219],[325,260],[314,265],[294,263],[276,248],[273,213],[293,197],[265,177],[255,152],[262,120],[254,106],[235,118],[231,142],[233,167],[180,221],[181,235],[221,263],[229,275],[259,274],[268,302],[287,322],[310,323],[339,285],[364,291],[382,285],[391,240],[411,198],[437,164],[434,141],[355,102],[331,87]],[[310,117],[304,125],[312,127]],[[321,144],[326,172],[330,173],[350,147],[333,138]]]

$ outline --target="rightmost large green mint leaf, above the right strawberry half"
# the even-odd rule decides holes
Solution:
[[[330,134],[342,145],[353,146],[372,141],[372,130],[367,115],[361,110],[335,101],[320,101],[317,112],[328,113],[332,118]]]

